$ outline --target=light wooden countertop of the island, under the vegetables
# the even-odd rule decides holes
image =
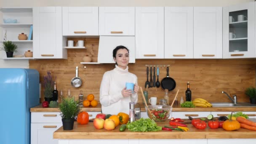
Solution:
[[[166,122],[158,122],[158,126],[168,125]],[[120,125],[119,125],[120,126]],[[93,123],[80,125],[75,122],[74,129],[64,131],[59,128],[53,133],[54,139],[255,139],[256,131],[250,131],[240,128],[237,131],[225,131],[222,128],[211,129],[207,127],[199,130],[188,125],[189,131],[157,131],[157,132],[131,132],[126,128],[120,132],[119,126],[115,130],[107,131],[105,129],[97,130]]]

